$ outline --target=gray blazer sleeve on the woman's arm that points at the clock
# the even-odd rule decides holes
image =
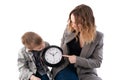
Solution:
[[[88,58],[77,57],[76,66],[83,68],[98,68],[103,59],[103,34],[99,35],[98,41],[92,55]]]

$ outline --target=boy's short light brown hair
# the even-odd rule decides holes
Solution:
[[[26,32],[21,39],[23,45],[31,50],[43,42],[42,38],[35,32]]]

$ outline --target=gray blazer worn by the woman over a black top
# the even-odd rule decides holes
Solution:
[[[64,31],[61,47],[64,54],[68,54],[67,43],[75,38],[75,33],[69,32],[67,29]],[[101,80],[97,76],[96,68],[101,66],[103,59],[103,34],[99,31],[96,32],[95,40],[85,45],[74,66],[77,69],[77,74],[80,80]],[[52,68],[53,78],[56,74],[64,69],[69,64],[65,58],[65,62],[59,66]],[[93,75],[93,76],[89,76]],[[88,77],[87,77],[88,76]]]

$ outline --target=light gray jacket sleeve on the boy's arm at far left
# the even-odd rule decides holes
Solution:
[[[18,69],[20,72],[19,80],[29,80],[33,74],[33,72],[29,70],[27,60],[22,50],[18,53]]]

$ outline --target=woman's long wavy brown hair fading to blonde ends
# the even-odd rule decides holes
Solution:
[[[84,4],[75,7],[69,14],[68,29],[74,31],[72,28],[71,15],[75,17],[75,24],[77,27],[81,25],[81,30],[77,30],[76,34],[82,35],[82,38],[86,44],[91,43],[95,39],[96,26],[92,9]],[[79,29],[79,28],[78,28]]]

